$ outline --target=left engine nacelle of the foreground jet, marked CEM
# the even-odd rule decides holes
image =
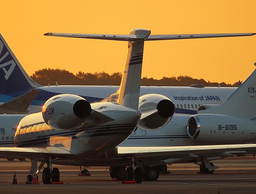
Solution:
[[[90,103],[73,94],[53,96],[44,103],[42,108],[44,122],[57,130],[78,127],[90,113]]]

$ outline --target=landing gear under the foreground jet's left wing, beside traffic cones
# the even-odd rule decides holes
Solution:
[[[47,163],[47,168],[44,168],[44,170],[42,172],[42,181],[43,181],[43,183],[44,184],[51,184],[52,182],[59,182],[59,169],[58,168],[52,168],[51,159],[52,159],[51,156],[49,158],[45,158],[41,162],[39,167],[37,167],[37,160],[36,159],[32,160],[31,169],[30,169],[30,173],[32,173],[32,175],[27,176],[27,182],[28,183],[32,182],[32,177],[42,169],[42,167],[45,163]],[[38,181],[38,176],[36,175],[36,177],[37,177],[37,181]]]

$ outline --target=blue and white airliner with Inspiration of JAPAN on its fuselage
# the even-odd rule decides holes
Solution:
[[[254,34],[220,34],[213,37],[251,35]],[[203,38],[205,35],[172,35],[171,38],[182,39],[192,36]],[[40,112],[47,99],[63,93],[79,95],[89,102],[100,101],[119,88],[119,86],[42,86],[28,76],[1,35],[0,82],[0,114]],[[140,95],[149,93],[165,95],[175,104],[176,113],[195,114],[200,105],[210,107],[218,105],[235,89],[233,87],[204,87],[200,84],[193,84],[188,87],[142,86]]]

